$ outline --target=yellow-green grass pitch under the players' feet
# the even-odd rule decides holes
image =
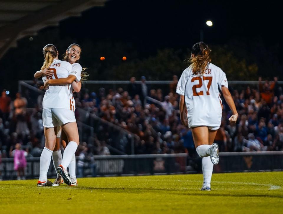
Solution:
[[[53,179],[52,179],[53,181]],[[282,213],[283,172],[80,178],[78,187],[0,181],[0,213]]]

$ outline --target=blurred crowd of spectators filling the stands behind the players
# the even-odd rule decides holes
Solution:
[[[259,79],[261,81],[261,79]],[[179,95],[175,93],[178,77],[166,89],[147,84],[146,78],[116,90],[100,88],[89,92],[86,86],[75,93],[78,121],[96,115],[116,127],[133,133],[135,154],[189,153],[195,155],[191,130],[184,127],[179,117]],[[34,86],[39,84],[34,81]],[[242,88],[242,89],[241,89]],[[231,111],[223,100],[223,119],[215,138],[220,151],[281,151],[283,143],[283,94],[274,81],[254,86],[230,86],[239,116],[236,124],[229,124]],[[166,93],[166,94],[165,94]],[[17,143],[27,157],[39,157],[45,138],[42,126],[42,97],[35,92],[16,94],[13,101],[4,90],[0,97],[0,151],[11,157]],[[149,97],[149,98],[148,98]],[[83,109],[84,115],[78,112]],[[89,117],[89,116],[88,116]],[[100,155],[110,154],[108,145],[131,153],[131,139],[127,134],[109,131],[107,124],[99,125],[91,142],[81,143],[77,151]],[[115,128],[114,128],[115,129]],[[127,133],[127,132],[125,132]],[[115,136],[116,138],[115,138]],[[112,153],[112,151],[111,151]]]

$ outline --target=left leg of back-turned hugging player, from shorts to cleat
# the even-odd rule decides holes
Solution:
[[[52,117],[51,109],[44,109],[42,112],[42,122],[44,126],[45,147],[40,156],[40,175],[37,186],[52,186],[52,182],[47,180],[47,171],[50,165],[52,152],[56,143],[57,129],[54,125],[57,121]]]

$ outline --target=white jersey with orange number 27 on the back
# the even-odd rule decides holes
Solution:
[[[191,67],[183,71],[176,92],[185,97],[189,127],[220,126],[222,100],[219,89],[222,86],[228,88],[226,74],[212,63],[203,76],[194,75]]]

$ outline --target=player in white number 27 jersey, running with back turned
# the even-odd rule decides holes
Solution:
[[[218,164],[218,144],[213,143],[221,124],[222,101],[220,90],[236,122],[238,113],[228,90],[226,74],[210,63],[210,48],[203,42],[192,46],[190,66],[186,68],[177,84],[180,94],[180,117],[185,126],[192,129],[196,151],[202,158],[203,187],[210,191],[213,164]]]

